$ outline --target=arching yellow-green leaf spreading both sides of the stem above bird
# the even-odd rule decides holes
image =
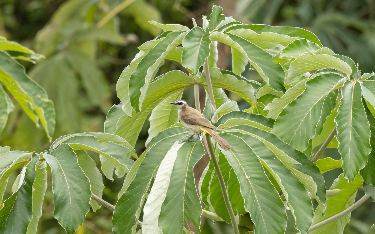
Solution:
[[[210,74],[213,87],[224,88],[234,92],[249,103],[255,100],[255,98],[253,99],[253,82],[229,71],[217,68],[211,68]],[[190,88],[195,83],[206,86],[206,79],[204,76],[200,76],[194,80],[192,77],[178,70],[168,72],[159,79],[156,79],[147,90],[141,111],[134,114],[132,117],[127,115],[121,116],[116,124],[114,134],[123,137],[130,145],[135,145],[145,119],[157,104],[169,95]]]

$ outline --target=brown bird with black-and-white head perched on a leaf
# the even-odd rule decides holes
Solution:
[[[231,149],[231,144],[216,133],[216,127],[201,112],[190,107],[185,100],[177,100],[171,102],[171,104],[177,107],[178,119],[187,130],[193,133],[192,136],[207,132],[219,143],[221,148],[224,150]]]

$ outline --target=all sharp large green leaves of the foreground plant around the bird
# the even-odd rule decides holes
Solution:
[[[239,230],[233,215],[254,224],[241,229],[243,233],[284,233],[287,210],[300,233],[342,232],[348,214],[322,223],[353,205],[364,182],[368,184],[365,192],[374,194],[374,73],[361,74],[354,61],[334,54],[302,28],[242,24],[222,15],[219,6],[202,19],[202,26],[193,21],[191,29],[150,22],[164,33],[139,46],[123,70],[117,82],[121,103],[109,110],[105,132],[62,136],[49,151],[39,154],[1,148],[1,198],[9,175],[21,169],[13,194],[0,210],[1,232],[36,233],[48,165],[54,216],[67,233],[74,233],[90,206],[95,211],[104,204],[102,174],[86,151],[100,154],[101,170],[108,179],[113,180],[113,173],[126,175],[113,212],[116,234],[140,229],[146,234],[190,233],[188,221],[193,224],[189,228],[195,226],[200,232],[202,215],[232,223],[235,233]],[[218,42],[231,48],[232,70],[216,67]],[[0,49],[9,61],[1,65],[5,74],[1,82],[21,106],[32,104],[23,106],[25,112],[31,119],[38,116],[51,136],[52,104],[14,60],[36,55],[18,51],[16,56],[7,47]],[[185,70],[156,77],[165,60],[176,61]],[[241,75],[248,64],[263,82]],[[17,70],[13,66],[22,73],[7,73]],[[26,94],[18,97],[12,88],[20,76],[20,90]],[[193,86],[195,91],[204,87],[210,94],[203,113],[232,145],[230,150],[213,146],[203,137],[182,143],[190,133],[176,124],[177,109],[169,103]],[[224,90],[239,95],[251,107],[239,110]],[[3,94],[1,111],[7,116],[12,104]],[[146,150],[138,157],[134,146],[148,116]],[[315,164],[320,151],[313,149],[330,140],[338,142],[342,159],[324,158]],[[211,161],[196,188],[193,167],[205,151]],[[321,173],[339,167],[344,173],[332,190],[326,190]],[[319,204],[315,212],[312,199]]]

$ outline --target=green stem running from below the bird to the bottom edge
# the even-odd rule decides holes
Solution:
[[[240,234],[240,231],[238,230],[238,226],[237,226],[238,224],[237,224],[237,221],[236,221],[236,217],[234,216],[234,212],[233,212],[231,203],[229,201],[228,191],[226,191],[225,181],[224,181],[223,175],[221,174],[219,163],[216,160],[216,156],[215,156],[215,152],[213,150],[213,145],[212,145],[212,142],[211,142],[210,135],[206,133],[205,137],[206,137],[206,142],[207,142],[208,155],[210,155],[210,157],[212,159],[212,162],[213,162],[216,174],[217,174],[217,178],[219,179],[221,192],[222,192],[223,197],[224,197],[224,202],[225,202],[226,209],[228,210],[229,217],[231,218],[231,224],[232,224],[232,227],[233,227],[234,234]]]

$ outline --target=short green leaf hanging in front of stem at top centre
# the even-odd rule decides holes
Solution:
[[[201,27],[192,28],[182,40],[182,65],[193,71],[199,72],[204,60],[210,55],[210,33]]]

